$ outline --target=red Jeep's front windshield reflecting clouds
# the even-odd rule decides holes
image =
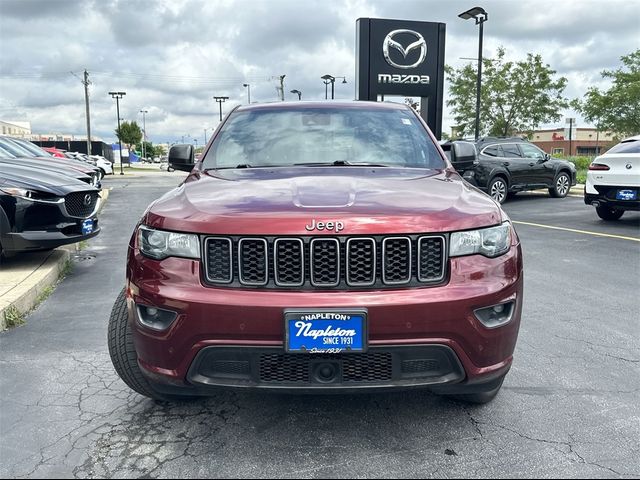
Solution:
[[[238,111],[203,160],[205,169],[292,165],[446,166],[411,111],[380,108]]]

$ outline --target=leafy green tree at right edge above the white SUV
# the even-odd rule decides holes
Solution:
[[[601,72],[603,78],[612,80],[611,88],[601,92],[591,87],[582,100],[575,99],[571,105],[599,130],[628,137],[640,133],[640,49],[620,60],[622,68]]]

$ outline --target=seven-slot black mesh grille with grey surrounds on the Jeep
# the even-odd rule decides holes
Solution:
[[[205,283],[270,289],[349,290],[438,285],[446,235],[204,237]]]

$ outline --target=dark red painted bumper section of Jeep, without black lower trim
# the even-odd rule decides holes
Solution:
[[[207,345],[281,346],[284,309],[366,307],[369,342],[379,345],[440,343],[453,348],[468,377],[509,365],[522,310],[519,244],[495,259],[479,255],[450,260],[446,285],[379,291],[260,291],[205,287],[195,260],[161,262],[131,250],[128,262],[130,317],[133,303],[179,312],[163,333],[134,323],[136,350],[146,368],[184,379],[195,354]],[[473,310],[516,300],[514,319],[487,329]]]

